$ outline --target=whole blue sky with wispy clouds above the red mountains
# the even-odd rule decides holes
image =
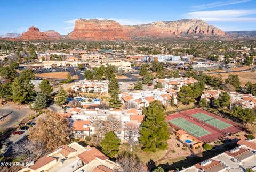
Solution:
[[[256,30],[256,0],[0,1],[0,35],[22,33],[31,25],[67,34],[78,18],[113,19],[126,25],[199,18],[224,31]]]

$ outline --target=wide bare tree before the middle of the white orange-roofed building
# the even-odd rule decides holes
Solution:
[[[114,115],[108,115],[105,119],[97,119],[93,122],[93,127],[95,127],[95,135],[104,136],[107,132],[119,132],[121,131],[122,124],[121,119],[118,119]]]

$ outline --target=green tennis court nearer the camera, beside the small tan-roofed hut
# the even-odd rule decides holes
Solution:
[[[174,125],[177,125],[186,132],[194,135],[195,137],[202,137],[204,135],[211,134],[210,131],[205,130],[202,127],[199,127],[198,125],[193,124],[184,118],[171,119],[169,122],[173,123]]]

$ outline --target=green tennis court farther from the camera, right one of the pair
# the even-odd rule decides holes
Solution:
[[[219,128],[220,130],[223,130],[225,128],[232,126],[231,124],[220,121],[219,119],[214,118],[209,115],[206,115],[204,113],[193,114],[191,116],[193,118],[199,119],[200,121],[205,122],[213,127]]]

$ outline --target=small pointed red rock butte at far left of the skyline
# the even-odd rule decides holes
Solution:
[[[38,28],[30,27],[27,32],[23,32],[22,36],[15,38],[18,40],[48,40],[50,39],[44,32],[40,32]]]

